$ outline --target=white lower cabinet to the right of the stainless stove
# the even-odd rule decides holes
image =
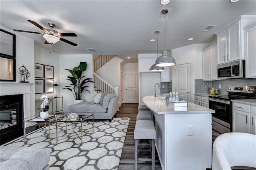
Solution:
[[[255,134],[256,107],[233,102],[233,132]]]

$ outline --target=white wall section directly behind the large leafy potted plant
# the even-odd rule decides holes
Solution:
[[[60,84],[59,88],[60,95],[63,95],[63,103],[64,107],[73,105],[74,104],[74,96],[72,95],[71,91],[68,89],[63,89],[66,85],[70,85],[70,81],[65,80],[67,76],[71,76],[70,72],[64,69],[73,69],[74,67],[78,66],[80,64],[80,61],[87,62],[87,69],[84,72],[84,75],[86,75],[86,78],[93,78],[92,76],[92,64],[93,64],[93,55],[60,55]],[[87,88],[90,93],[85,91],[82,95],[82,99],[84,101],[92,102],[92,98],[94,97],[95,93],[93,91],[94,83],[88,83],[89,87]]]

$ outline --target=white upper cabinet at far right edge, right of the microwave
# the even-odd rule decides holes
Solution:
[[[256,24],[244,30],[245,77],[256,78]]]

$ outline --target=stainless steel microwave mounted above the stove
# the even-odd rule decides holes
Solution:
[[[217,65],[217,79],[245,78],[245,60]]]

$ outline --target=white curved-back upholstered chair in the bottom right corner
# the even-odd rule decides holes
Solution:
[[[232,166],[256,168],[256,135],[240,132],[221,134],[212,149],[212,170],[231,170]]]

